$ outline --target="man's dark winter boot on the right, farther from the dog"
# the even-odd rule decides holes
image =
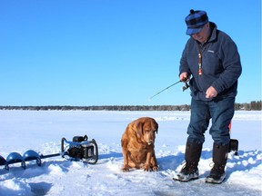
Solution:
[[[215,163],[209,176],[207,176],[207,183],[222,183],[226,179],[225,166],[227,164],[227,153],[229,144],[217,145],[213,144],[213,162]]]

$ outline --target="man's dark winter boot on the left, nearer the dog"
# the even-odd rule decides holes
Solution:
[[[199,172],[197,166],[200,160],[202,146],[202,143],[186,142],[186,164],[183,166],[182,170],[177,174],[177,177],[174,178],[174,180],[191,181],[198,179]]]

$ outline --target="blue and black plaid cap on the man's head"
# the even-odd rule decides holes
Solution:
[[[185,21],[187,25],[186,34],[196,34],[208,23],[207,13],[205,11],[195,11],[191,9],[190,14],[186,16]]]

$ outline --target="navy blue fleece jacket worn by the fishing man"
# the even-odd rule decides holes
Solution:
[[[198,74],[199,44],[190,37],[183,51],[179,74],[188,73],[191,76],[189,85],[193,99],[211,101],[206,98],[207,88],[213,86],[217,97],[235,97],[237,95],[237,79],[242,72],[237,45],[224,32],[217,30],[217,25],[210,22],[212,33],[209,40],[203,44],[202,75]]]

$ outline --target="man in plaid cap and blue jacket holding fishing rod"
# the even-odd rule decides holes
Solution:
[[[225,180],[225,166],[230,142],[228,125],[233,118],[237,79],[242,72],[237,45],[217,25],[209,22],[205,11],[190,10],[186,16],[190,35],[183,51],[179,77],[189,81],[191,90],[191,117],[187,128],[186,164],[176,180],[190,181],[198,178],[198,162],[205,142],[209,120],[214,166],[206,182]]]

